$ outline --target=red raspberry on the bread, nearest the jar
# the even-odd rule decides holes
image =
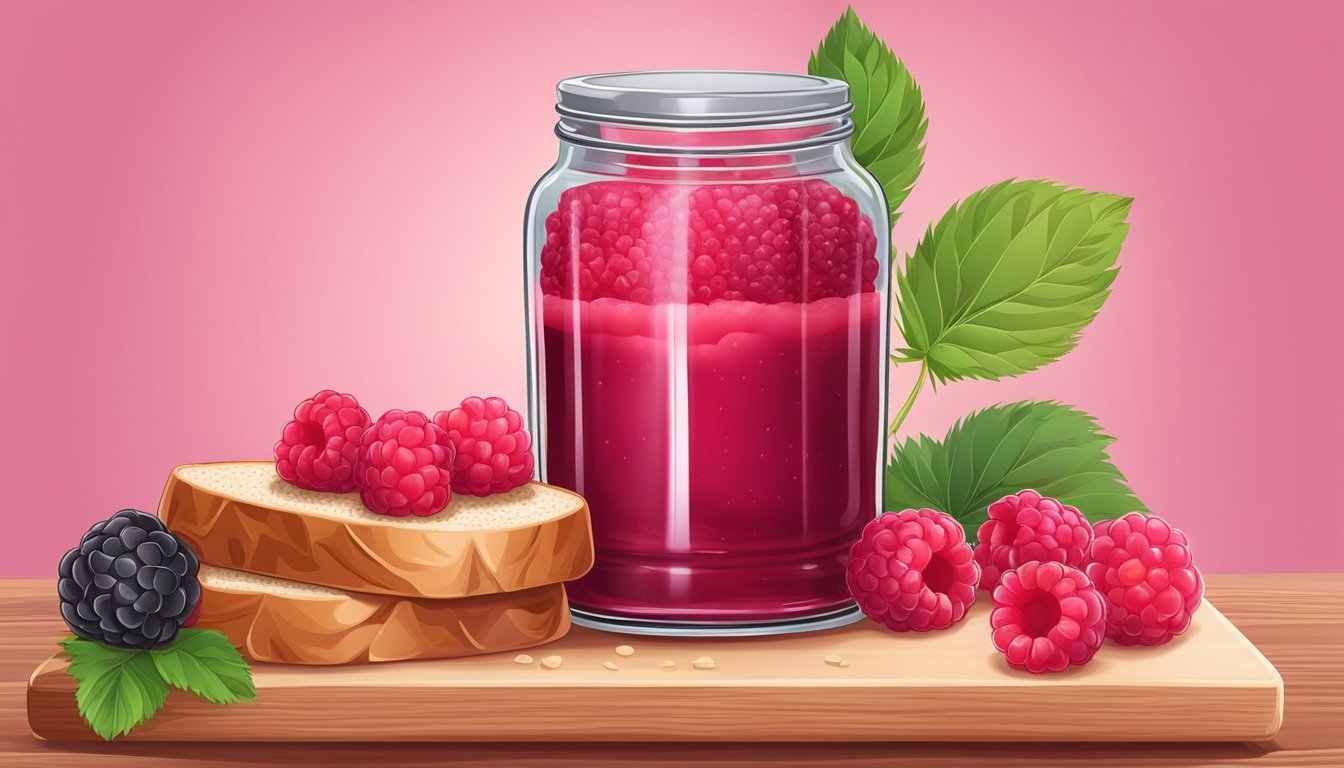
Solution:
[[[469,397],[434,414],[434,424],[457,448],[453,490],[488,496],[532,479],[532,437],[523,417],[497,397]]]

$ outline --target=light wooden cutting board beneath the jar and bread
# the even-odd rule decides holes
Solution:
[[[614,652],[618,644],[633,656]],[[1212,605],[1159,648],[1107,643],[1085,667],[1031,675],[989,642],[989,608],[896,635],[864,621],[812,635],[634,638],[574,628],[527,651],[363,667],[254,664],[258,701],[173,690],[145,741],[1259,741],[1284,717],[1278,671]],[[840,655],[848,666],[827,663]],[[559,668],[542,668],[559,655]],[[710,656],[715,668],[695,668]],[[671,659],[675,670],[659,663]],[[607,670],[603,662],[620,668]],[[97,738],[58,654],[28,682],[28,722]]]

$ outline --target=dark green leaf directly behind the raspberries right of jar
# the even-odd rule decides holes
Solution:
[[[958,421],[939,443],[921,434],[887,464],[887,510],[930,507],[957,518],[974,542],[992,502],[1031,488],[1089,521],[1146,512],[1110,463],[1113,438],[1087,413],[1052,401],[996,405]]]

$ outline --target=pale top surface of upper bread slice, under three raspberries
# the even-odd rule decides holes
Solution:
[[[453,494],[444,511],[423,518],[396,518],[368,511],[359,494],[323,494],[290,486],[270,461],[187,464],[173,471],[181,482],[247,504],[360,525],[425,531],[492,531],[527,529],[564,518],[583,507],[578,494],[528,483],[503,494]]]

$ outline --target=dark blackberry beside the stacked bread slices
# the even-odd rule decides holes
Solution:
[[[200,603],[200,561],[159,518],[121,510],[60,558],[60,616],[86,640],[171,643]]]

